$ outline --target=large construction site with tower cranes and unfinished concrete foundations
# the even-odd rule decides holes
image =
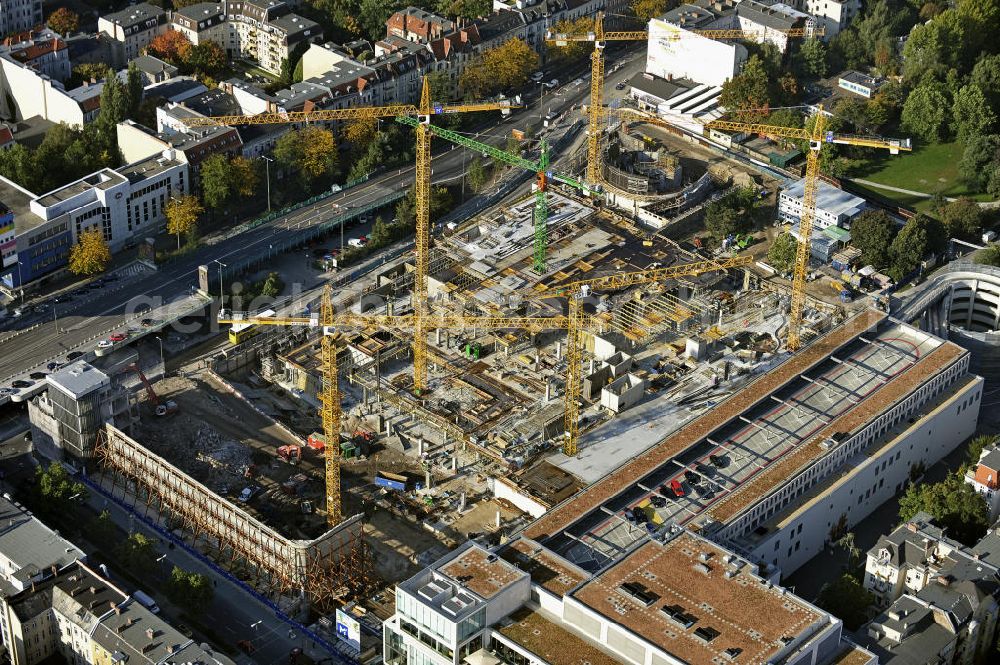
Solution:
[[[416,106],[193,118],[413,126],[414,251],[355,288],[220,311],[230,343],[220,336],[157,382],[155,416],[97,436],[102,482],[289,609],[329,611],[573,505],[854,314],[806,292],[811,212],[791,284],[768,279],[755,265],[764,249],[709,250],[699,237],[701,202],[754,175],[705,151],[653,149],[627,127],[602,148],[600,47],[593,63],[584,162],[550,165],[544,140],[513,155],[438,128],[437,114],[509,104],[432,105],[426,83]],[[812,133],[715,124],[824,135],[822,122]],[[431,136],[534,174],[532,192],[432,240]],[[818,148],[808,157],[806,211]],[[572,549],[565,538],[553,547]]]

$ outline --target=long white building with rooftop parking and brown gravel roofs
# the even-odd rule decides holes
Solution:
[[[512,543],[400,584],[385,662],[874,663],[776,582],[970,436],[981,395],[967,351],[863,311]]]

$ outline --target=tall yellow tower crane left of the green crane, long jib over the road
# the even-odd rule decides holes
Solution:
[[[420,124],[416,127],[416,174],[414,178],[414,199],[416,202],[416,265],[413,277],[413,389],[416,393],[427,388],[428,328],[423,323],[427,311],[427,269],[430,261],[430,191],[431,191],[431,116],[452,113],[473,113],[476,111],[503,111],[514,108],[514,104],[499,102],[472,102],[466,104],[437,104],[431,101],[431,89],[424,77],[420,92],[420,103],[396,104],[390,106],[359,106],[344,109],[317,111],[294,111],[290,113],[259,113],[257,115],[223,115],[192,117],[184,120],[191,127],[267,125],[303,122],[323,122],[338,120],[358,120],[415,116]]]

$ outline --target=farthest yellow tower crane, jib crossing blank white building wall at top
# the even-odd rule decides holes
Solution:
[[[790,28],[781,30],[788,37],[821,35],[821,28]],[[668,39],[683,39],[687,34],[696,34],[709,39],[759,39],[763,30],[686,30],[677,28]],[[605,30],[604,12],[594,17],[594,30],[580,34],[545,33],[545,41],[565,46],[569,42],[594,42],[594,52],[590,55],[590,107],[587,109],[587,183],[596,185],[601,180],[601,117],[605,112],[604,89],[604,47],[606,42],[634,42],[649,39],[648,30]]]

